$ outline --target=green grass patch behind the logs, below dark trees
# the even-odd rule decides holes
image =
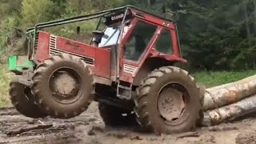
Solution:
[[[201,71],[192,74],[196,81],[206,87],[219,86],[222,84],[235,82],[256,74],[256,70],[246,71]]]

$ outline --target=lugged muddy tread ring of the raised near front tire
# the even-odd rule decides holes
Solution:
[[[76,109],[72,112],[63,112],[58,110],[52,110],[51,106],[44,105],[46,99],[42,97],[41,95],[44,93],[44,91],[40,88],[40,82],[42,81],[43,73],[49,69],[50,66],[53,66],[56,62],[74,62],[77,63],[78,66],[83,67],[83,70],[88,74],[88,82],[90,83],[90,86],[92,87],[90,92],[90,98],[89,100],[82,106],[82,108]],[[40,65],[38,65],[37,69],[35,70],[33,79],[33,86],[32,90],[35,96],[35,100],[38,103],[38,106],[44,110],[47,114],[49,114],[52,118],[74,118],[78,116],[79,114],[82,114],[85,110],[87,110],[88,106],[90,105],[90,102],[94,100],[94,78],[93,74],[89,68],[89,66],[86,64],[86,62],[82,61],[81,58],[78,58],[76,56],[70,55],[70,54],[58,54],[54,55],[50,58],[46,58]]]

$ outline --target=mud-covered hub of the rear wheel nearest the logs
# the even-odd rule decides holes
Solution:
[[[172,87],[163,88],[158,94],[158,110],[162,117],[172,122],[177,120],[185,109],[185,102],[181,91]]]

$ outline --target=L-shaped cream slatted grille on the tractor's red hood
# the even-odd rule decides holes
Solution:
[[[49,54],[50,55],[56,55],[56,54],[71,54],[74,56],[77,56],[79,58],[81,58],[84,62],[86,62],[88,65],[94,65],[94,58],[90,58],[90,57],[86,57],[80,54],[74,54],[71,52],[68,52],[66,50],[60,50],[57,48],[56,46],[56,39],[57,37],[54,35],[50,35],[50,50],[49,50]]]

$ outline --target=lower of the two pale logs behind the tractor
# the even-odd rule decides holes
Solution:
[[[256,111],[256,94],[239,102],[204,113],[203,126],[213,126]]]

